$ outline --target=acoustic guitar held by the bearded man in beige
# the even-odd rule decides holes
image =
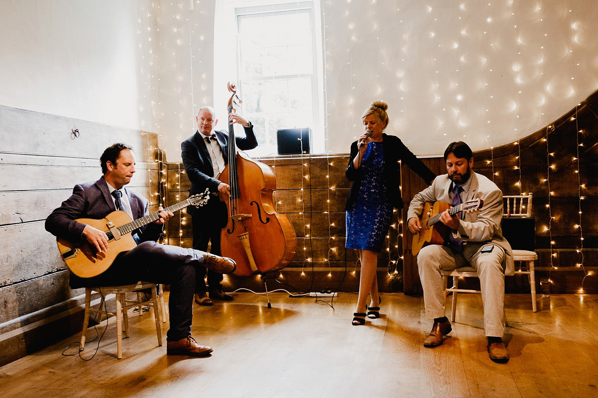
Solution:
[[[443,223],[438,223],[438,221],[440,221],[440,216],[447,209],[449,209],[450,215],[455,215],[459,212],[469,213],[480,211],[483,205],[484,201],[481,199],[468,200],[453,208],[451,208],[450,203],[424,203],[422,215],[419,220],[422,225],[422,230],[413,235],[411,254],[417,255],[423,246],[444,244],[447,235],[450,233],[449,227]]]

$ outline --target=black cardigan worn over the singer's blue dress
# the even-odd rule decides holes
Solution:
[[[420,159],[417,159],[417,157],[413,155],[396,135],[382,134],[382,150],[384,152],[384,169],[382,172],[384,174],[386,198],[388,198],[393,207],[402,209],[404,203],[401,198],[401,189],[399,188],[399,160],[419,174],[428,184],[431,184],[432,181],[434,181],[436,174],[434,174],[428,166],[423,164]],[[349,199],[344,207],[345,210],[353,208],[353,203],[355,203],[355,200],[357,199],[361,180],[364,176],[361,167],[356,169],[355,166],[353,166],[353,159],[355,159],[358,152],[357,141],[354,141],[351,144],[349,165],[347,165],[347,169],[344,172],[349,181],[353,181],[351,189],[349,190]]]

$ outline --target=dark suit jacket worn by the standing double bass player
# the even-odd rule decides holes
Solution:
[[[240,150],[254,149],[258,146],[258,141],[255,139],[254,126],[250,123],[249,127],[244,127],[245,137],[234,137],[234,141],[237,148]],[[224,164],[228,164],[228,132],[226,131],[214,131],[216,139],[220,149],[222,150],[222,156],[224,156]],[[212,168],[212,159],[208,153],[206,142],[203,140],[203,135],[199,131],[187,138],[187,140],[181,143],[181,157],[183,164],[185,165],[185,171],[189,180],[191,181],[191,189],[189,195],[196,195],[196,193],[203,193],[206,188],[209,188],[210,192],[218,192],[219,180],[214,178],[214,171]],[[209,205],[200,207],[188,206],[188,214],[200,215],[205,211],[213,211],[212,206],[216,204],[216,200],[219,202],[218,197],[211,197]]]

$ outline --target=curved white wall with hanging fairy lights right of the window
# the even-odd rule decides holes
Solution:
[[[511,143],[598,88],[596,1],[324,4],[331,152],[348,150],[373,100],[389,104],[388,132],[434,155]]]

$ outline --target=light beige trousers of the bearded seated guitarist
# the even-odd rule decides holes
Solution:
[[[444,283],[440,271],[471,266],[480,277],[486,336],[502,337],[505,332],[505,271],[502,266],[505,252],[494,245],[492,252],[481,253],[481,248],[488,244],[467,242],[461,254],[441,245],[429,245],[420,250],[417,266],[428,319],[444,316]]]

